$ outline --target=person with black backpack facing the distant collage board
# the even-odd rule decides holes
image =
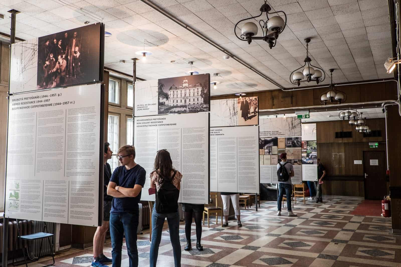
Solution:
[[[277,198],[277,216],[281,216],[281,202],[283,200],[284,191],[287,198],[288,216],[297,216],[291,210],[292,182],[291,177],[294,176],[294,167],[287,162],[287,153],[280,154],[281,161],[277,163],[277,180],[278,180],[278,198]]]

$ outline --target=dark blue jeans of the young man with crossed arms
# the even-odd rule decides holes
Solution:
[[[130,267],[138,267],[138,248],[136,246],[138,223],[138,213],[110,214],[112,267],[121,267],[121,250],[124,235],[126,238],[128,257],[130,258]]]

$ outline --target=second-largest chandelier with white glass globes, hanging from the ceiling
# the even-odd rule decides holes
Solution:
[[[290,74],[290,81],[292,84],[297,84],[298,86],[301,85],[301,82],[316,82],[316,84],[319,84],[319,82],[324,81],[326,78],[326,74],[324,73],[324,70],[322,68],[313,66],[310,64],[312,61],[309,57],[309,52],[308,52],[308,43],[310,42],[310,38],[305,38],[304,40],[306,42],[306,58],[304,59],[304,66],[297,68]],[[302,70],[298,71],[298,70]],[[322,78],[323,76],[323,78]]]

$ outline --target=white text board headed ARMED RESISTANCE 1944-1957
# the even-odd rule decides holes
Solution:
[[[101,85],[10,96],[10,218],[98,225]]]

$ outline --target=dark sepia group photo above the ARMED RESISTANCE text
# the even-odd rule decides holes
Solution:
[[[38,46],[38,89],[100,80],[100,23],[39,37]]]

